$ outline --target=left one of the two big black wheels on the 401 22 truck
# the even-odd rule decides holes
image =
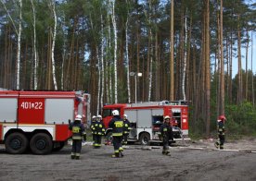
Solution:
[[[12,133],[6,138],[6,152],[11,154],[21,154],[25,152],[29,145],[29,140],[22,133]]]

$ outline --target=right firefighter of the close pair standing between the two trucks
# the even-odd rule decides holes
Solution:
[[[105,128],[102,123],[102,116],[97,115],[96,116],[96,123],[94,125],[94,135],[95,135],[95,143],[94,147],[96,149],[99,149],[101,146],[101,138],[105,134]]]

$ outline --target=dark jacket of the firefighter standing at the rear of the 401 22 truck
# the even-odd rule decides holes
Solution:
[[[72,139],[83,139],[86,138],[85,128],[80,121],[74,121],[70,123],[69,129],[72,131]]]

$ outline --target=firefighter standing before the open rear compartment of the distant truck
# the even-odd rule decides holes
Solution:
[[[168,155],[169,140],[173,140],[173,127],[170,125],[170,116],[164,116],[164,123],[160,126],[160,137],[162,139],[162,154]]]

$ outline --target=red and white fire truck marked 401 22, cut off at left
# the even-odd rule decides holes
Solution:
[[[0,143],[8,153],[46,154],[71,137],[69,119],[89,116],[89,94],[82,91],[0,90]]]

